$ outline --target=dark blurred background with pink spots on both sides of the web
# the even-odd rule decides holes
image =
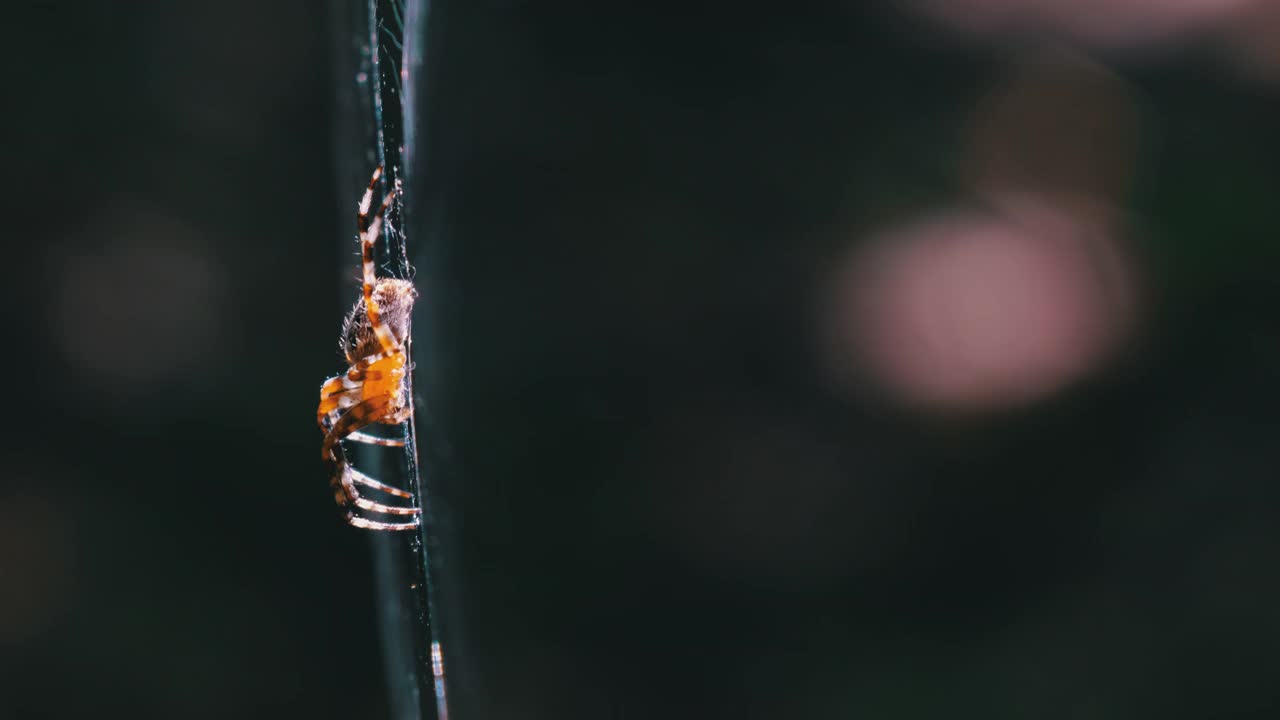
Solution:
[[[488,717],[1280,706],[1280,3],[453,5]],[[0,717],[385,717],[328,12],[9,15]]]

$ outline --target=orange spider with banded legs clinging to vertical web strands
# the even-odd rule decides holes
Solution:
[[[374,423],[398,425],[413,415],[412,398],[406,387],[404,343],[408,341],[410,314],[417,291],[410,281],[379,278],[376,273],[374,245],[383,227],[383,215],[399,191],[397,186],[387,195],[378,211],[370,215],[374,188],[381,174],[381,167],[374,170],[369,190],[365,191],[356,211],[364,265],[364,293],[343,320],[342,338],[338,341],[351,366],[346,373],[329,378],[320,386],[316,421],[324,430],[320,456],[329,468],[329,486],[347,523],[371,530],[410,530],[419,527],[420,509],[411,505],[375,502],[360,493],[360,486],[399,498],[412,500],[412,496],[355,469],[347,461],[342,446],[342,441],[349,439],[367,445],[404,447],[403,439],[381,438],[361,429]],[[357,515],[357,510],[410,519],[370,520]]]

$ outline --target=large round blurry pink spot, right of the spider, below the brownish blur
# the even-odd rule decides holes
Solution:
[[[1088,372],[1123,313],[1100,236],[1061,219],[948,213],[876,238],[836,293],[837,373],[963,409],[1034,400]]]

